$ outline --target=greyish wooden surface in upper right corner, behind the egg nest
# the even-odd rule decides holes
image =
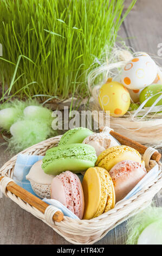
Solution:
[[[126,17],[124,22],[129,35],[130,46],[135,51],[158,54],[158,44],[162,42],[161,8],[159,0],[138,0],[136,9]],[[159,60],[162,64],[162,60]]]

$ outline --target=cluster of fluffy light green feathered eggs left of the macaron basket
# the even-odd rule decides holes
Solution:
[[[51,127],[52,111],[36,100],[14,100],[0,106],[0,127],[10,131],[8,150],[18,153],[57,135]]]

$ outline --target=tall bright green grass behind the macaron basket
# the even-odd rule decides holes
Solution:
[[[124,2],[1,0],[0,102],[12,96],[87,96],[86,71],[106,46],[111,49],[136,1],[122,16]]]

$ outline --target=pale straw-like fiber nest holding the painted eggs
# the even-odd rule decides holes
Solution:
[[[131,53],[130,50],[132,51],[132,49],[123,50],[122,48],[115,47],[109,58],[102,61],[96,60],[100,66],[88,74],[88,88],[92,95],[90,108],[93,111],[102,110],[98,100],[99,89],[109,77],[119,77],[121,69],[133,58],[133,51]],[[156,62],[155,57],[152,54],[150,56]],[[159,67],[159,70],[161,70],[161,67]],[[160,80],[162,84],[161,75]],[[161,98],[162,95],[160,93],[158,101]],[[158,102],[155,101],[152,107],[144,107],[146,101],[136,111],[128,111],[123,117],[111,117],[110,125],[114,131],[134,141],[160,148],[162,147],[162,112],[160,113],[159,111],[162,111],[162,106],[155,106]]]

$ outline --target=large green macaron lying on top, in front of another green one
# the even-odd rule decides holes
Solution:
[[[94,167],[97,160],[95,149],[87,144],[67,144],[47,150],[43,158],[44,173],[58,175],[66,170],[80,173]]]

